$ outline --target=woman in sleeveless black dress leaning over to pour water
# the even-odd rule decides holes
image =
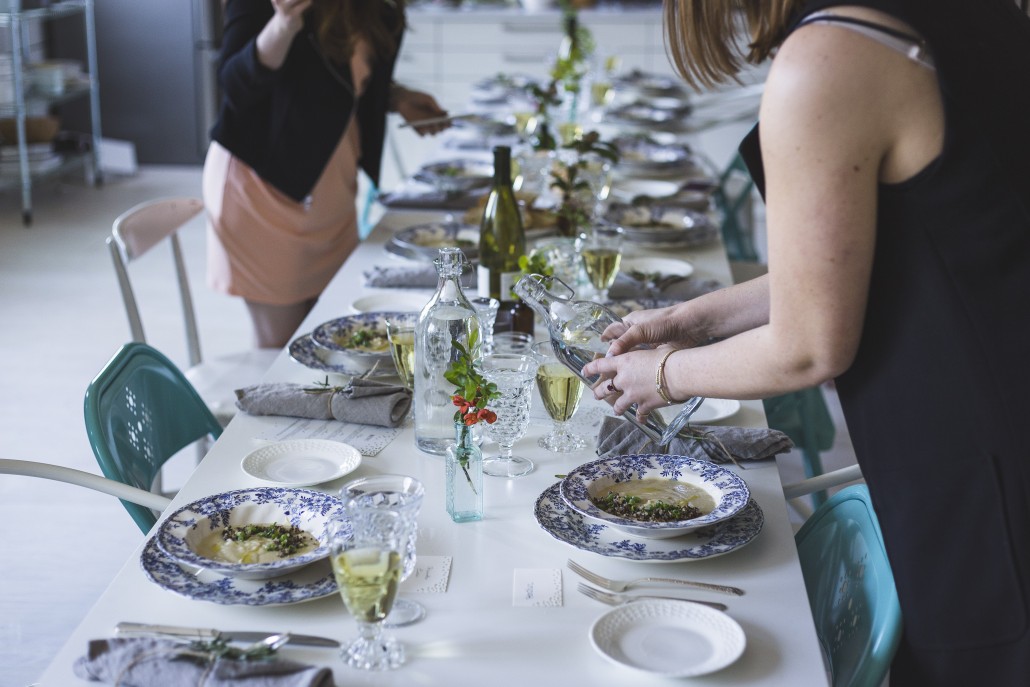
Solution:
[[[667,0],[688,80],[735,71],[741,10],[745,57],[775,54],[742,144],[768,274],[629,315],[584,372],[645,414],[835,379],[901,602],[892,684],[1028,685],[1030,20],[1012,0]]]

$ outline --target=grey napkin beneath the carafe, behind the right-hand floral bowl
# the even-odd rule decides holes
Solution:
[[[608,458],[634,453],[688,455],[712,462],[761,460],[786,453],[794,442],[779,430],[691,424],[692,437],[682,435],[667,449],[655,446],[643,432],[620,417],[606,417],[597,432],[597,455]]]

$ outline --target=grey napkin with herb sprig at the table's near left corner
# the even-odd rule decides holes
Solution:
[[[215,657],[173,640],[93,640],[73,666],[83,680],[121,687],[333,687],[328,667]]]

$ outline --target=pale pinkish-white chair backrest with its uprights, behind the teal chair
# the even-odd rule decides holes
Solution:
[[[193,294],[190,290],[190,281],[177,232],[180,227],[203,210],[204,203],[197,198],[162,198],[140,203],[114,219],[111,235],[107,238],[107,247],[110,250],[111,260],[114,262],[114,273],[122,289],[126,315],[129,317],[132,340],[143,343],[146,343],[146,336],[143,334],[143,322],[140,319],[139,306],[136,303],[136,296],[129,279],[128,266],[162,241],[168,240],[175,263],[179,299],[182,303],[190,367],[199,365],[202,355],[200,336],[197,331],[197,316],[193,306]]]

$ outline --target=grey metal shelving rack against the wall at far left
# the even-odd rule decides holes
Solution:
[[[87,44],[87,72],[74,80],[65,80],[60,73],[48,87],[29,83],[29,63],[38,56],[33,45],[33,35],[44,22],[66,16],[81,15]],[[93,0],[48,0],[34,2],[31,8],[23,5],[23,0],[7,0],[0,9],[0,30],[5,35],[4,49],[0,51],[0,62],[8,65],[3,76],[10,83],[9,98],[0,98],[0,118],[14,123],[14,141],[4,141],[5,146],[13,143],[16,156],[9,161],[15,163],[14,174],[6,174],[0,168],[0,190],[21,186],[22,219],[25,225],[32,222],[32,182],[46,176],[55,176],[87,165],[87,169],[99,181],[100,166],[100,96],[97,82],[97,46],[93,15]],[[30,113],[46,112],[50,108],[73,99],[88,97],[92,124],[92,145],[88,152],[70,151],[60,158],[49,157],[46,165],[34,164],[30,158],[26,137],[26,119]],[[33,151],[34,152],[34,151]],[[3,161],[6,163],[8,161]]]

